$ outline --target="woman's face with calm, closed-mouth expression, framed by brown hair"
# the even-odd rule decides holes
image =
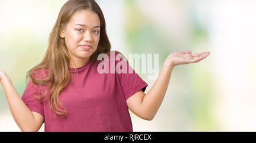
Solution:
[[[65,38],[68,54],[78,66],[88,61],[96,51],[100,41],[100,18],[90,10],[81,10],[73,14],[60,37]]]

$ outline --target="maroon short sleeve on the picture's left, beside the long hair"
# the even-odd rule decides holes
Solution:
[[[38,99],[36,99],[34,96],[34,93],[36,93],[39,97],[42,97],[40,86],[32,83],[30,79],[22,95],[22,100],[27,105],[28,109],[38,112],[44,117],[43,101],[38,101]]]

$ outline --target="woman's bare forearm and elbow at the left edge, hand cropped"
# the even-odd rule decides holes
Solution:
[[[38,131],[44,122],[43,116],[28,109],[22,98],[19,97],[10,77],[1,70],[0,83],[5,91],[11,114],[13,114],[14,120],[19,128],[25,132]]]

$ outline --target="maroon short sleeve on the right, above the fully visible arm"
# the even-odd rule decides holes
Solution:
[[[119,56],[115,54],[116,56]],[[119,69],[117,75],[123,90],[123,95],[125,100],[133,96],[139,90],[143,92],[146,90],[148,84],[142,80],[142,78],[130,67],[130,65],[120,58],[120,60],[115,60],[115,68]],[[126,67],[126,68],[123,68]],[[126,71],[126,72],[125,72]]]

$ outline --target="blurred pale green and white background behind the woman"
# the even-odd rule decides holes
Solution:
[[[211,52],[199,63],[174,68],[152,121],[130,112],[134,131],[256,131],[256,1],[96,1],[112,50],[126,57],[159,54],[159,72],[174,51]],[[0,0],[0,70],[11,77],[20,96],[26,72],[43,59],[65,2]],[[148,83],[147,93],[155,80],[139,75]],[[2,86],[0,131],[20,131]]]

